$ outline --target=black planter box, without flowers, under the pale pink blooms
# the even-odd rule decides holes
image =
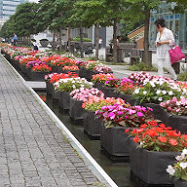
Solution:
[[[85,110],[82,108],[82,101],[77,101],[70,97],[69,115],[73,120],[83,120]]]

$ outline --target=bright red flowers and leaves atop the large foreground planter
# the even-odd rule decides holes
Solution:
[[[156,121],[147,122],[129,133],[134,136],[134,142],[140,144],[139,147],[149,151],[180,152],[187,146],[187,135],[172,130],[163,123],[158,125]]]

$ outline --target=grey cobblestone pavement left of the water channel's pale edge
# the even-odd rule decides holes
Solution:
[[[101,186],[0,55],[0,187]]]

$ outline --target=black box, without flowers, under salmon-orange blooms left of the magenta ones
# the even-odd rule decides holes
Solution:
[[[84,132],[91,139],[100,139],[101,119],[96,118],[95,112],[86,111],[84,114]]]

